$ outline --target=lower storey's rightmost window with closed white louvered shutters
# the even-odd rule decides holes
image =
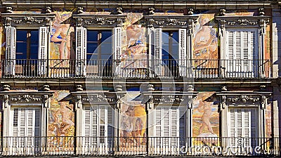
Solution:
[[[258,110],[256,108],[230,108],[228,112],[228,136],[230,146],[256,147],[258,140]],[[241,139],[241,140],[238,140]],[[241,141],[242,143],[240,143]]]

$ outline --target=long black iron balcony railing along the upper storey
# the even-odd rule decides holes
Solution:
[[[2,78],[270,78],[269,60],[1,60]]]

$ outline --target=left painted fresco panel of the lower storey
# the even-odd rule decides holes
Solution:
[[[48,118],[48,136],[50,136],[48,145],[51,150],[74,150],[74,138],[72,137],[75,131],[73,105],[60,101],[68,94],[69,91],[55,91],[51,99]]]

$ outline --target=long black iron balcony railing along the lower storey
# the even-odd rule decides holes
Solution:
[[[279,157],[280,138],[2,137],[0,156]]]

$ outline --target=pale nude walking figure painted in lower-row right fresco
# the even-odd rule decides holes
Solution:
[[[213,129],[211,128],[210,118],[211,118],[211,102],[200,100],[200,104],[198,109],[203,110],[202,114],[202,126],[199,129],[199,133],[201,134],[204,127],[207,126],[208,130],[214,134]]]

